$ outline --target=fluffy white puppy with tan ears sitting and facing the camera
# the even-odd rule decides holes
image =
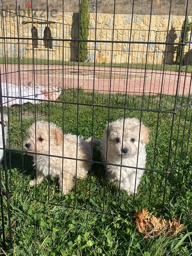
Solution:
[[[108,179],[116,182],[120,189],[125,189],[129,195],[137,193],[140,178],[144,173],[145,144],[149,142],[149,131],[149,128],[136,118],[127,118],[125,122],[124,119],[118,119],[105,127],[101,153],[103,162],[106,163]]]

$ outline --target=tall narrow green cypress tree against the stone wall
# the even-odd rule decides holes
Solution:
[[[89,36],[89,6],[88,0],[81,0],[80,6],[80,40],[87,40]],[[87,42],[79,42],[79,61],[86,61],[88,57]]]

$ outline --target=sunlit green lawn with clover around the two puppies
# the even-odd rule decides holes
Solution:
[[[192,109],[181,108],[173,114],[174,101],[172,96],[142,98],[118,93],[109,97],[84,90],[66,90],[57,103],[9,108],[7,165],[13,240],[10,247],[6,199],[3,197],[6,253],[22,256],[192,255],[192,163],[190,155],[186,156],[191,150]],[[177,105],[189,102],[191,98],[178,98]],[[136,110],[141,108],[143,111]],[[79,179],[76,189],[64,197],[55,180],[47,179],[36,189],[29,188],[29,180],[35,175],[32,159],[21,151],[26,129],[34,118],[55,122],[65,133],[78,133],[84,138],[92,135],[93,125],[93,136],[101,139],[106,122],[124,115],[141,116],[143,123],[151,129],[146,148],[149,170],[145,172],[135,198],[125,191],[119,192],[115,184],[105,180],[102,163],[93,164],[88,177]],[[173,116],[175,122],[171,131]],[[178,159],[179,163],[176,162]],[[94,149],[93,160],[100,161],[99,148]],[[163,172],[172,164],[167,177]],[[175,237],[143,239],[134,219],[134,212],[142,208],[163,218],[177,217],[185,228]]]

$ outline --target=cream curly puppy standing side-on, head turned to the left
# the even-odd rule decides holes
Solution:
[[[86,177],[90,169],[92,152],[90,143],[82,137],[63,134],[61,128],[44,121],[32,124],[27,130],[27,135],[23,143],[24,150],[28,154],[38,153],[36,157],[33,154],[36,180],[31,180],[30,186],[34,186],[35,182],[40,184],[50,175],[58,178],[64,195],[75,185],[74,177]]]

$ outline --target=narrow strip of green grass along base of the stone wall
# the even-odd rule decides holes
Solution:
[[[37,58],[10,58],[6,57],[6,60],[3,57],[0,57],[0,64],[39,64],[39,65],[69,65],[69,66],[89,66],[89,67],[111,67],[110,63],[94,63],[94,62],[76,62],[76,61],[65,61],[64,63],[62,61],[56,61],[56,60],[45,60],[45,59],[37,59]],[[136,68],[136,69],[145,69],[145,62],[143,63],[137,63],[137,64],[129,64],[128,63],[113,63],[113,67],[116,68]],[[167,70],[167,71],[179,71],[179,65],[177,64],[165,64],[163,67],[162,64],[150,64],[147,63],[146,69],[149,70]],[[182,66],[181,72],[192,72],[192,66]]]

